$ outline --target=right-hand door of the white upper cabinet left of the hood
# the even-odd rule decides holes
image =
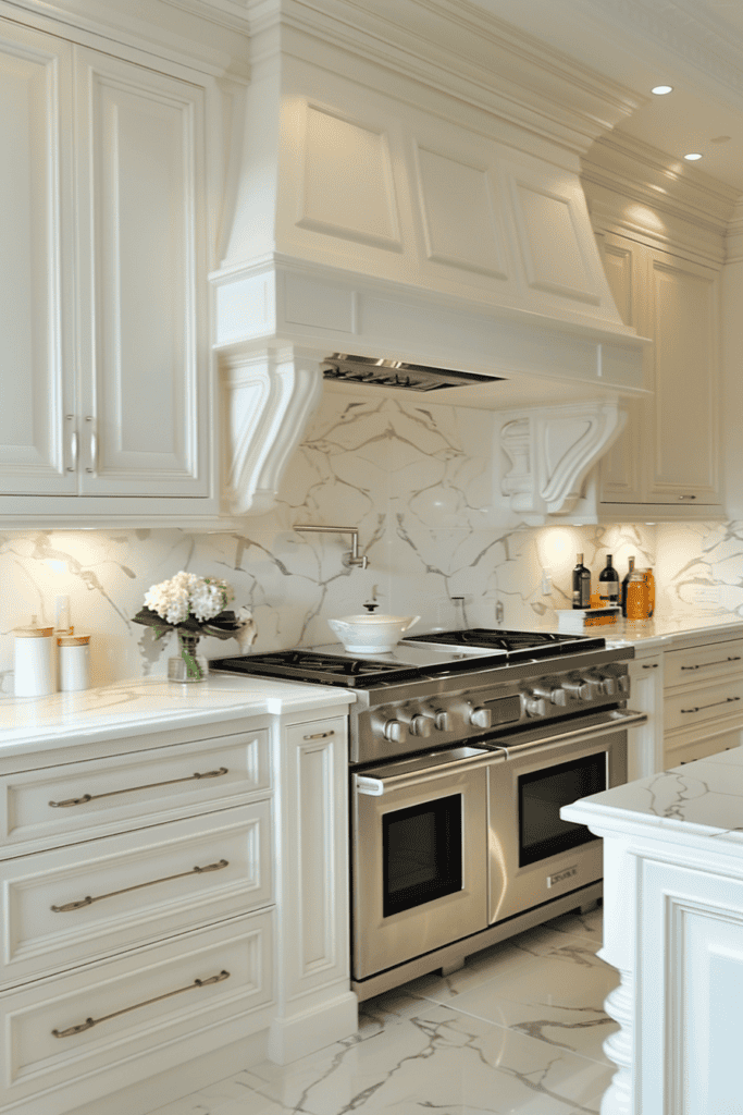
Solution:
[[[84,495],[209,494],[204,97],[75,48]]]

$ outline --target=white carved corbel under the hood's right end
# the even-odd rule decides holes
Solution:
[[[583,482],[624,429],[616,400],[560,404],[514,413],[500,430],[511,462],[501,492],[525,517],[566,515],[583,495]]]

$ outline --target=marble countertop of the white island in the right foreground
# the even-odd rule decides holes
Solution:
[[[561,815],[589,827],[743,852],[743,747],[584,797]]]

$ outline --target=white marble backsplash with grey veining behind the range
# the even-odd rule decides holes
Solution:
[[[276,508],[239,530],[0,532],[0,691],[12,692],[12,629],[32,615],[52,623],[61,594],[92,636],[94,685],[164,672],[175,637],[156,642],[131,617],[150,584],[182,569],[233,585],[253,609],[256,651],[330,642],[327,618],[372,597],[380,611],[420,615],[419,630],[493,627],[499,602],[505,627],[534,627],[569,607],[579,551],[596,576],[607,552],[620,575],[629,554],[653,565],[669,613],[743,614],[743,524],[506,527],[491,442],[487,411],[327,394]],[[369,568],[342,564],[348,534],[299,534],[297,523],[358,527]],[[202,646],[237,652],[232,640]]]

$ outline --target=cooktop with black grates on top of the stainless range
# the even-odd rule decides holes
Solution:
[[[605,646],[604,639],[587,636],[475,628],[413,636],[384,655],[352,655],[340,643],[331,643],[213,659],[209,669],[363,689],[472,668],[508,668]]]

